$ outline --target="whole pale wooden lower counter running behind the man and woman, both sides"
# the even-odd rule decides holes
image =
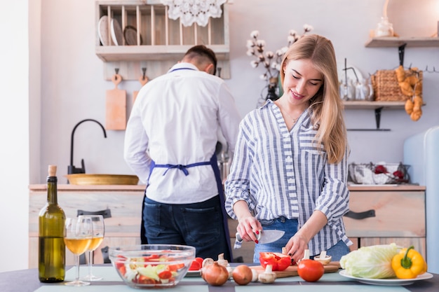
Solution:
[[[105,219],[106,238],[102,246],[140,243],[141,208],[144,185],[79,186],[58,184],[58,202],[66,216],[76,216],[79,210],[108,211]],[[353,241],[352,249],[360,246],[398,242],[413,244],[425,256],[424,186],[415,185],[352,185],[350,207],[363,212],[374,209],[375,216],[363,220],[345,218],[346,232]],[[38,262],[38,214],[47,199],[46,184],[29,186],[29,267]],[[414,211],[416,210],[416,211]],[[402,217],[402,218],[400,218]],[[229,219],[230,241],[235,242],[237,221]],[[412,230],[412,231],[410,231]],[[253,257],[254,243],[245,242],[234,250],[234,258],[244,261]],[[67,264],[74,263],[73,258]],[[98,249],[95,263],[103,263]]]

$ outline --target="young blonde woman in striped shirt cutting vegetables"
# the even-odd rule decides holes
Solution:
[[[283,95],[241,121],[226,210],[243,240],[256,243],[256,263],[259,252],[284,246],[295,261],[305,249],[339,260],[352,244],[342,218],[349,211],[349,147],[331,41],[303,36],[285,53],[280,73]],[[270,229],[285,235],[258,244],[257,232]]]

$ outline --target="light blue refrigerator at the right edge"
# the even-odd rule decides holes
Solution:
[[[412,183],[426,187],[426,260],[439,273],[439,125],[404,141],[404,164]]]

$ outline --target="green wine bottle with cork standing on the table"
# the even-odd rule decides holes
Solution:
[[[39,212],[39,280],[45,283],[64,281],[65,277],[65,214],[58,205],[56,166],[49,165],[47,202]]]

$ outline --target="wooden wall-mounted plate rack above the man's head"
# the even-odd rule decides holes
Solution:
[[[147,68],[150,78],[165,74],[191,46],[198,44],[215,52],[221,77],[230,78],[228,4],[221,6],[221,17],[210,18],[205,27],[196,23],[184,27],[180,18],[168,18],[168,6],[159,0],[95,3],[95,52],[104,61],[107,80],[116,68],[123,79],[129,80],[137,80],[141,68]]]

